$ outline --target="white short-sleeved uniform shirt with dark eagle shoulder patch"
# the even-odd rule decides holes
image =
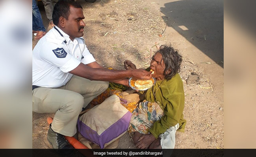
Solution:
[[[72,77],[68,72],[75,69],[81,62],[83,64],[95,62],[82,37],[72,41],[69,35],[55,27],[63,37],[55,28],[52,28],[33,49],[32,85],[48,88],[61,87]]]

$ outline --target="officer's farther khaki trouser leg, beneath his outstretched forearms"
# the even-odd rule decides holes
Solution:
[[[85,108],[91,100],[106,91],[106,89],[108,89],[108,85],[109,82],[106,81],[91,81],[83,77],[73,75],[69,82],[59,89],[67,89],[80,93],[84,98],[83,108]]]

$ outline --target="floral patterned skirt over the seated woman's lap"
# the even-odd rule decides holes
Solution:
[[[156,102],[144,100],[132,112],[132,118],[128,132],[138,131],[147,134],[148,130],[153,126],[154,122],[160,120],[163,116],[163,110]]]

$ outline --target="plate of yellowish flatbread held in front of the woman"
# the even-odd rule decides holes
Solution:
[[[132,89],[139,90],[139,91],[145,91],[151,88],[155,83],[156,83],[156,79],[154,77],[152,77],[149,80],[146,80],[146,79],[136,80],[136,79],[132,79],[132,77],[129,79],[129,86]]]

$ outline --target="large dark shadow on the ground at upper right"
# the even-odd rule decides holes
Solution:
[[[180,0],[161,7],[169,27],[223,68],[223,0]]]

